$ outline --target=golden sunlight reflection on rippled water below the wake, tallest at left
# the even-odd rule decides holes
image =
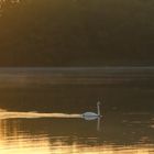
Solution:
[[[116,145],[99,143],[95,145],[81,143],[78,136],[51,136],[47,133],[31,134],[22,131],[18,120],[0,121],[0,154],[152,154],[151,144]],[[37,128],[40,129],[40,128]],[[52,128],[51,128],[52,129]],[[84,140],[91,140],[84,138]]]

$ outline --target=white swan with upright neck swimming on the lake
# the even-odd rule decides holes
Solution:
[[[97,102],[97,113],[95,113],[95,112],[85,112],[85,113],[81,114],[81,117],[85,120],[95,120],[95,119],[101,118],[102,116],[100,114],[100,101]]]

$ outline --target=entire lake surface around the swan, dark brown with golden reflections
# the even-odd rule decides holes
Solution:
[[[1,154],[153,154],[154,68],[1,68]],[[101,119],[87,121],[85,111]]]

